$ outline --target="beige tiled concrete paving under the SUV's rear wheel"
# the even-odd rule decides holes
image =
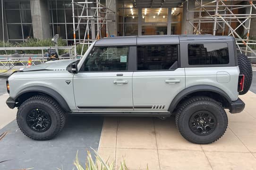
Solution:
[[[230,114],[224,136],[209,145],[185,140],[174,117],[106,117],[99,153],[116,160],[125,157],[128,168],[144,170],[255,170],[256,169],[256,94],[240,96],[246,103],[242,113]]]

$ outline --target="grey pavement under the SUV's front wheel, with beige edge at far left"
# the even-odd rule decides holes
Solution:
[[[16,110],[9,109],[5,104],[7,97],[9,95],[0,96],[0,134],[8,132],[0,140],[0,162],[10,161],[0,163],[0,170],[32,167],[33,170],[57,170],[62,166],[63,170],[72,170],[77,151],[84,165],[86,151],[91,151],[90,147],[98,149],[102,117],[68,117],[64,129],[56,138],[35,141],[23,135],[17,127],[14,120]],[[1,126],[4,127],[1,129]]]

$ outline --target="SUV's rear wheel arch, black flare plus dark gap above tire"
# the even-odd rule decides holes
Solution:
[[[168,111],[170,113],[173,113],[173,111],[175,111],[176,107],[184,99],[186,99],[186,97],[202,96],[202,95],[212,97],[213,99],[222,103],[224,108],[230,107],[231,98],[222,89],[219,89],[217,87],[210,86],[210,85],[196,85],[196,86],[191,86],[191,87],[188,87],[188,88],[180,91],[176,95],[176,97],[174,97],[173,100],[171,101]]]

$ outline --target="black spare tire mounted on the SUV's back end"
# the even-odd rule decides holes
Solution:
[[[245,75],[244,89],[239,92],[239,95],[244,95],[250,89],[252,84],[252,65],[249,58],[241,53],[238,54],[238,66],[240,74]]]

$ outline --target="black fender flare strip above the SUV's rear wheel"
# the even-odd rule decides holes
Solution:
[[[219,95],[224,97],[229,103],[231,102],[229,95],[227,95],[227,93],[224,92],[222,89],[219,89],[217,87],[210,86],[210,85],[196,85],[196,86],[191,86],[191,87],[188,87],[188,88],[180,91],[176,95],[176,97],[174,97],[173,100],[171,101],[171,105],[169,106],[168,111],[170,113],[172,113],[174,111],[174,109],[177,107],[177,105],[179,104],[179,102],[184,97],[188,96],[189,94],[192,94],[194,92],[199,92],[199,91],[210,91],[210,92],[218,93]]]

